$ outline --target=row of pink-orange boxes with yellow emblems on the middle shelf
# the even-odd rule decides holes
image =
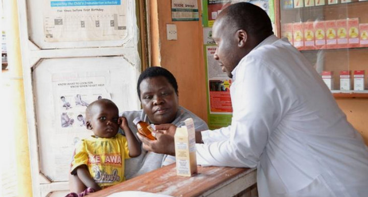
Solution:
[[[368,23],[359,18],[285,23],[281,35],[300,51],[367,47]]]

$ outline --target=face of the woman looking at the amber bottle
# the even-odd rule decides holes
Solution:
[[[140,90],[143,110],[153,124],[174,121],[179,107],[178,95],[165,77],[144,79]]]

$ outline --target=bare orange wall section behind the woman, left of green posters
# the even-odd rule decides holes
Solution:
[[[207,121],[202,21],[172,21],[167,0],[157,0],[157,8],[160,66],[175,76],[179,104]],[[176,24],[177,40],[167,40],[166,24]]]

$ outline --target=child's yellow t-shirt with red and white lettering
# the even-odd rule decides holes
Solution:
[[[77,144],[71,167],[87,165],[89,174],[102,188],[125,181],[124,159],[129,158],[128,142],[125,136],[117,134],[112,138],[91,136]]]

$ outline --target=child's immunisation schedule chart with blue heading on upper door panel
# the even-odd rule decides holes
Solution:
[[[46,42],[118,40],[127,35],[127,1],[44,1]]]

